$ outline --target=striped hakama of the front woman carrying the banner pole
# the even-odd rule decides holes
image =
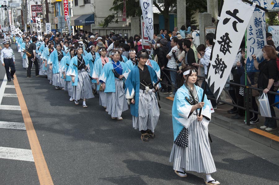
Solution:
[[[197,115],[196,112],[193,113]],[[197,116],[192,116],[188,127],[188,147],[173,144],[170,153],[170,162],[173,169],[184,168],[185,171],[211,174],[216,171],[214,160],[210,152],[208,141],[208,128],[197,121]]]

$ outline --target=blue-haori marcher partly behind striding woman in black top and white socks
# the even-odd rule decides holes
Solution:
[[[69,48],[69,52],[62,58],[60,61],[60,68],[59,71],[63,74],[63,79],[64,79],[64,90],[68,90],[68,94],[71,97],[70,101],[73,101],[73,86],[72,86],[72,77],[66,75],[67,71],[69,69],[69,65],[71,63],[71,59],[75,56],[75,48],[71,47]]]

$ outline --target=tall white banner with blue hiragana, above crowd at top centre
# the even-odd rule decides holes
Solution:
[[[144,19],[144,34],[148,35],[148,40],[152,42],[154,28],[153,28],[153,0],[140,0],[141,11]]]

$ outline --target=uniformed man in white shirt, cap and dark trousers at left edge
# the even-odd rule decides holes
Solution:
[[[14,51],[9,48],[10,42],[9,40],[4,41],[2,44],[4,44],[4,49],[1,51],[1,57],[0,60],[2,62],[2,65],[6,69],[6,75],[7,75],[7,80],[8,82],[11,82],[11,79],[14,78],[15,74],[15,54]],[[11,68],[11,72],[9,69]]]

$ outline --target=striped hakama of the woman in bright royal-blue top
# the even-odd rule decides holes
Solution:
[[[123,89],[123,80],[114,79],[115,92],[109,92],[107,95],[107,111],[112,117],[120,117],[122,112],[128,110],[125,92]]]

